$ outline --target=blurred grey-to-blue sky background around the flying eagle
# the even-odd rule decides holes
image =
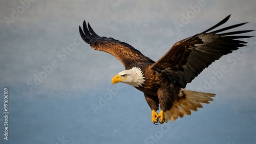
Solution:
[[[249,22],[236,30],[255,30],[254,0],[1,1],[0,143],[255,143],[255,38],[187,84],[215,93],[214,101],[154,125],[142,92],[112,85],[123,65],[93,50],[78,31],[86,20],[99,36],[157,61],[174,43],[229,14],[223,26]]]

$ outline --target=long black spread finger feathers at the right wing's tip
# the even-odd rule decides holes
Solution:
[[[224,18],[222,21],[220,21],[219,23],[217,23],[216,25],[210,27],[208,30],[200,33],[200,34],[207,34],[207,32],[211,31],[211,30],[214,30],[214,28],[226,23],[228,21],[228,19],[230,18],[231,15],[228,15],[226,18]],[[234,24],[234,25],[231,25],[231,26],[227,26],[227,27],[224,27],[224,28],[221,28],[220,30],[217,30],[217,31],[214,31],[214,32],[210,32],[211,34],[217,34],[217,33],[220,33],[220,32],[224,32],[224,31],[227,31],[227,30],[230,30],[232,28],[235,28],[235,27],[238,27],[238,26],[241,26],[241,25],[244,25],[248,22],[244,22],[244,23],[239,23],[239,24]],[[236,34],[243,34],[243,33],[248,33],[248,32],[252,32],[252,31],[255,31],[255,30],[246,30],[246,31],[235,31],[235,32],[229,32],[229,33],[222,33],[222,34],[219,34],[221,36],[226,36],[226,35],[236,35]],[[200,35],[200,34],[197,34],[197,35]],[[195,35],[195,36],[197,36]],[[233,36],[233,39],[241,39],[241,38],[251,38],[251,37],[254,37],[254,36]]]

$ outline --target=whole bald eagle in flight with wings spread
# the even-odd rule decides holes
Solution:
[[[190,110],[197,111],[202,107],[201,103],[212,101],[211,97],[215,94],[185,90],[186,84],[221,56],[246,46],[245,41],[237,39],[252,37],[236,34],[253,30],[222,33],[247,22],[209,32],[225,23],[229,17],[202,33],[175,43],[157,62],[130,44],[98,36],[86,21],[83,21],[83,31],[79,26],[79,32],[93,49],[108,52],[121,61],[125,70],[115,75],[112,83],[127,83],[143,92],[152,110],[152,122],[163,124],[183,118],[184,114],[190,115]],[[159,105],[161,110],[158,113]]]

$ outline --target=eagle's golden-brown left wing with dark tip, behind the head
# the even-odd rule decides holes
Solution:
[[[89,29],[88,29],[89,28]],[[131,45],[120,42],[113,38],[106,38],[98,36],[86,21],[83,21],[83,31],[79,26],[79,32],[82,39],[90,44],[95,50],[108,52],[115,57],[124,65],[125,69],[131,69],[133,64],[141,63],[155,63],[150,58],[143,55],[139,50],[135,49]]]

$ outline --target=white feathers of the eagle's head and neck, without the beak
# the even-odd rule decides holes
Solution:
[[[140,68],[133,67],[130,70],[124,70],[119,73],[119,75],[127,74],[128,76],[131,76],[130,79],[126,79],[122,81],[123,83],[127,83],[129,85],[132,85],[133,87],[142,87],[142,84],[145,81],[145,77],[143,76],[143,73]]]

